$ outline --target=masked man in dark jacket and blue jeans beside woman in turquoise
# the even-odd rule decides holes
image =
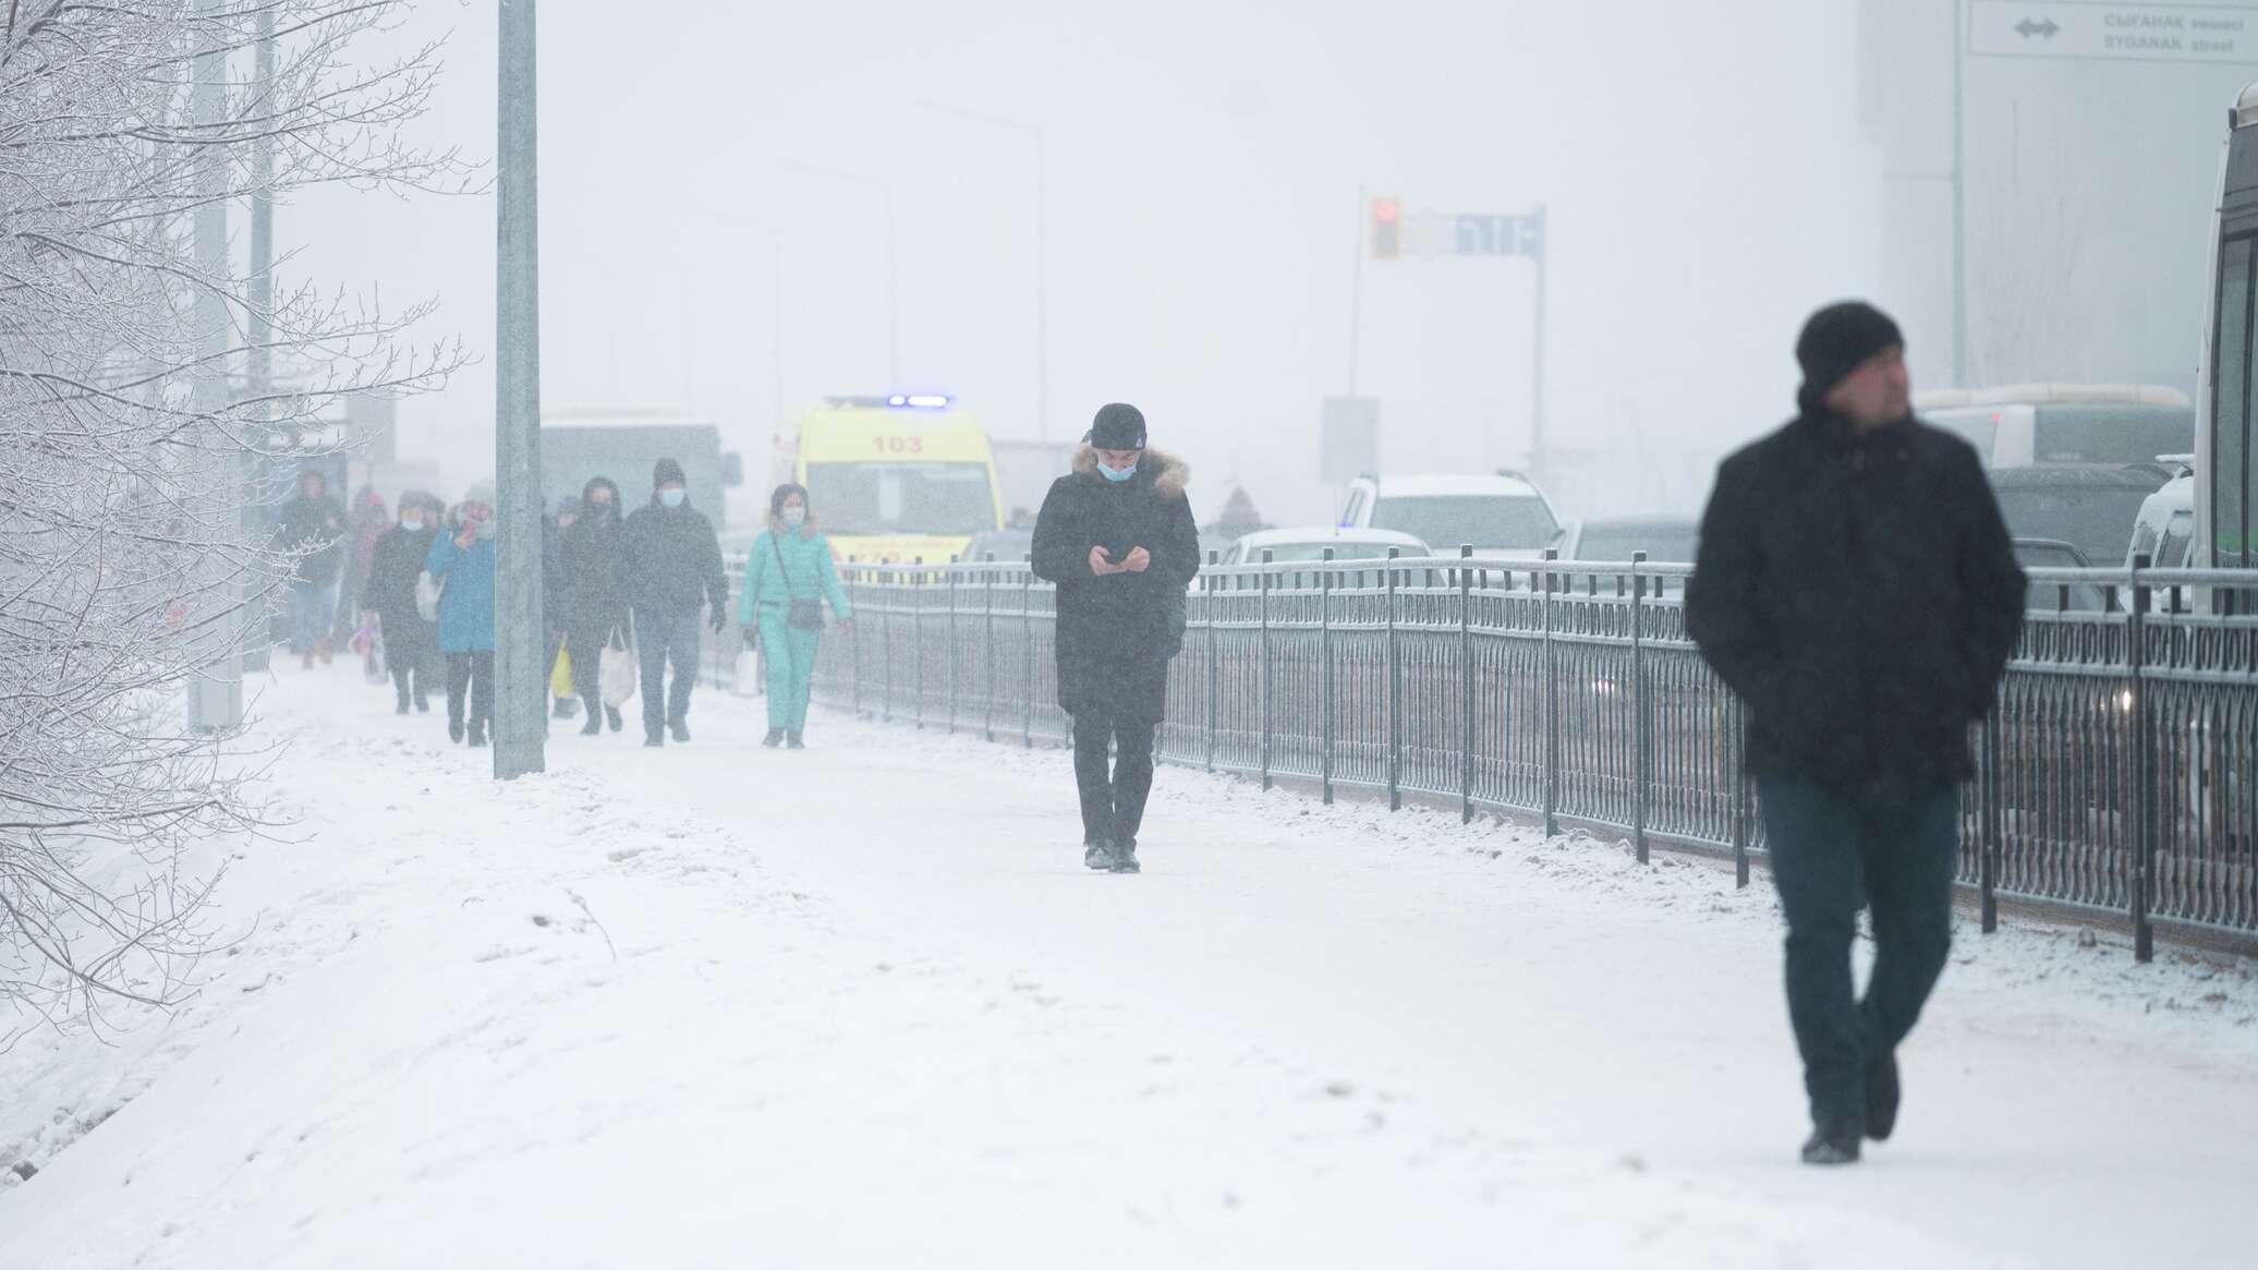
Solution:
[[[716,633],[729,624],[729,579],[720,572],[714,522],[689,499],[682,463],[659,459],[650,472],[650,506],[628,517],[628,603],[644,660],[644,743],[691,739],[691,687],[698,682],[698,606],[709,606]],[[666,691],[666,662],[675,664]]]

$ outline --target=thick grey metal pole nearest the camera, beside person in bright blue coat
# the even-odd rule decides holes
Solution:
[[[495,169],[495,780],[544,771],[542,337],[533,2],[501,0]]]

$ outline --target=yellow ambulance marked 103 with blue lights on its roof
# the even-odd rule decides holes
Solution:
[[[777,438],[777,477],[808,488],[840,563],[939,565],[1003,529],[987,432],[953,398],[824,398]]]

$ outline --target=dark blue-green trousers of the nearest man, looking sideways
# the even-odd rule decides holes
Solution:
[[[1763,832],[1788,915],[1788,1019],[1813,1119],[1865,1114],[1865,1064],[1906,1040],[1953,940],[1960,791],[1865,802],[1763,777]],[[1874,974],[1852,990],[1861,879]]]

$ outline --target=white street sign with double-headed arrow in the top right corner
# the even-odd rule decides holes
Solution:
[[[2258,66],[2258,9],[1976,0],[1969,7],[1969,52]]]

